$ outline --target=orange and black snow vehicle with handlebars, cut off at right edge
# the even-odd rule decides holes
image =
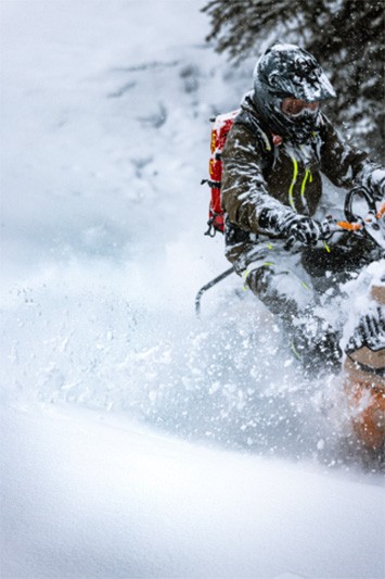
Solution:
[[[338,234],[354,236],[356,242],[370,241],[378,248],[378,267],[385,265],[385,203],[377,211],[369,191],[359,186],[346,194],[344,213],[345,221],[328,216],[322,223],[322,242],[326,246]],[[376,452],[385,449],[385,267],[380,275],[376,267],[373,276],[371,266],[364,274],[363,302],[369,304],[369,311],[364,315],[359,312],[359,323],[348,320],[344,328],[347,336],[338,378],[356,438],[364,448]],[[201,288],[195,298],[197,316],[203,294],[233,272],[230,267]]]

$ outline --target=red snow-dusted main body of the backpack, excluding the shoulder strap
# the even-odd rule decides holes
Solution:
[[[208,229],[205,236],[215,237],[217,231],[224,232],[224,215],[220,202],[220,188],[222,178],[222,150],[229,130],[234,124],[240,109],[229,113],[220,114],[210,121],[214,121],[211,128],[210,159],[208,163],[209,179],[203,179],[202,185],[206,184],[211,190],[211,198],[208,209]]]

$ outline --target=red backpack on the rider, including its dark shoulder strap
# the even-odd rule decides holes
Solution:
[[[208,164],[209,179],[203,179],[201,184],[207,184],[211,190],[208,209],[208,229],[205,232],[205,236],[209,237],[215,237],[217,231],[220,231],[221,234],[224,232],[224,212],[222,210],[220,200],[220,189],[222,185],[222,151],[226,139],[235,122],[235,118],[236,123],[243,124],[248,130],[252,130],[260,142],[262,151],[264,177],[266,177],[272,168],[274,146],[282,142],[282,138],[275,135],[271,134],[268,137],[259,125],[255,124],[255,122],[253,122],[247,114],[241,112],[241,109],[236,109],[235,111],[230,111],[229,113],[223,113],[210,118],[210,121],[214,122],[214,125],[211,128],[210,142],[211,154]]]

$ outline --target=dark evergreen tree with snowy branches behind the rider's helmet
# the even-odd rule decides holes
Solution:
[[[211,0],[203,12],[207,41],[233,63],[259,55],[269,39],[307,49],[336,89],[332,119],[384,152],[384,0]]]

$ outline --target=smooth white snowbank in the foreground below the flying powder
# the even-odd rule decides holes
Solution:
[[[2,577],[382,577],[383,489],[121,416],[8,411]]]

